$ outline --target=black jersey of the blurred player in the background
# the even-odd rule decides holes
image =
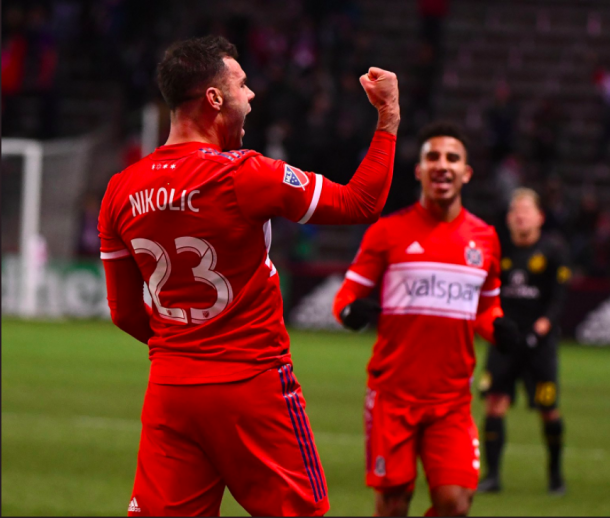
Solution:
[[[529,332],[543,316],[556,331],[571,277],[565,248],[544,236],[526,247],[504,243],[500,265],[505,315],[517,322],[522,332]]]

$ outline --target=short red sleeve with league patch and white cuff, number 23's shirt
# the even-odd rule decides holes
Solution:
[[[320,199],[322,182],[319,174],[257,155],[244,161],[235,175],[235,193],[241,211],[250,219],[283,216],[306,223]]]

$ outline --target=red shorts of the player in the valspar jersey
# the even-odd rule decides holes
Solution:
[[[382,490],[407,485],[413,491],[419,455],[430,489],[476,489],[479,439],[470,402],[409,405],[367,388],[364,425],[368,486]]]

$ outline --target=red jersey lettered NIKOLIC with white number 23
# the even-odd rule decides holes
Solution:
[[[387,194],[394,142],[377,132],[369,151],[384,174],[366,159],[359,168],[377,193]],[[290,363],[269,220],[358,220],[362,203],[341,206],[347,187],[197,142],[160,147],[115,175],[100,212],[101,257],[131,255],[148,284],[151,381],[229,382]]]

